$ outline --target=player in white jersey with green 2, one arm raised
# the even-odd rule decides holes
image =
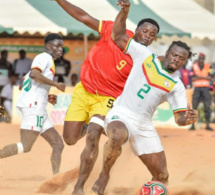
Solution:
[[[198,112],[187,106],[185,88],[175,72],[192,55],[181,41],[173,42],[163,61],[142,43],[141,35],[129,39],[125,21],[129,12],[128,0],[119,0],[121,11],[112,31],[115,43],[132,57],[133,68],[122,94],[114,102],[105,119],[109,137],[104,146],[103,168],[92,190],[102,195],[109,180],[110,169],[122,152],[121,146],[130,141],[134,153],[147,166],[152,180],[167,182],[166,157],[159,136],[152,124],[156,107],[164,101],[171,104],[179,126],[194,123]]]

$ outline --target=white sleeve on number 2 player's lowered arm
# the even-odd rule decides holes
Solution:
[[[168,94],[167,101],[172,106],[173,113],[187,110],[186,90],[181,81],[178,81],[174,89]]]

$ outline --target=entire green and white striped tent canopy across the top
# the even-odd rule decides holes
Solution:
[[[97,19],[114,20],[119,7],[116,0],[68,0]],[[130,0],[127,27],[134,30],[139,20],[151,17],[161,27],[160,36],[188,36],[215,39],[215,16],[193,0]],[[117,10],[118,9],[118,10]],[[45,35],[98,35],[72,19],[50,0],[1,0],[0,33]]]

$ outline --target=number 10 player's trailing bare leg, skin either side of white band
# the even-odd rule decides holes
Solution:
[[[23,152],[31,151],[31,148],[34,142],[36,141],[38,135],[39,135],[39,132],[37,131],[29,131],[29,130],[21,129],[20,136],[21,136],[21,143],[24,149]],[[16,143],[7,145],[0,150],[0,158],[6,158],[16,154],[18,154],[18,148]]]

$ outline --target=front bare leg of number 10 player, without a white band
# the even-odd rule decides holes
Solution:
[[[54,128],[46,130],[41,134],[41,136],[50,144],[53,149],[51,155],[52,172],[53,174],[57,174],[59,173],[61,154],[64,148],[63,140]]]

